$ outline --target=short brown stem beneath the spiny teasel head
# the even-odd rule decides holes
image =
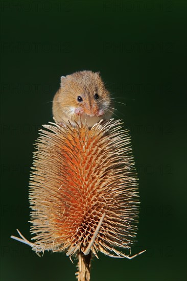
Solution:
[[[90,281],[90,265],[91,252],[87,255],[78,252],[78,272],[76,273],[78,281]]]

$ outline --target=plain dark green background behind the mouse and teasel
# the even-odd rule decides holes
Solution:
[[[1,280],[75,280],[64,253],[30,240],[33,143],[60,76],[100,71],[132,136],[141,214],[136,259],[99,254],[91,280],[186,280],[185,1],[2,1]]]

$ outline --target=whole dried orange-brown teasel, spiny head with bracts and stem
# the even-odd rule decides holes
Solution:
[[[130,137],[120,120],[92,128],[43,125],[30,176],[29,242],[36,253],[78,256],[79,281],[89,280],[91,256],[127,257],[136,237],[138,188]],[[142,252],[141,252],[142,253]],[[139,253],[138,253],[139,254]]]

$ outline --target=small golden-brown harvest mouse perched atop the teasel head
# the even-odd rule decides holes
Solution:
[[[59,90],[53,99],[53,116],[60,124],[71,122],[76,126],[81,121],[92,127],[101,119],[111,118],[109,91],[98,72],[80,71],[71,75],[62,76]]]

